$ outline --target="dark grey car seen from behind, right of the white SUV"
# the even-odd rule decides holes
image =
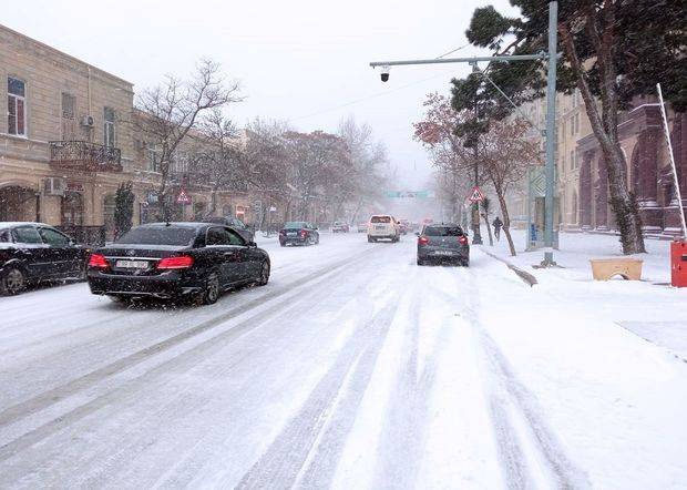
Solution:
[[[418,233],[418,265],[430,261],[470,265],[468,236],[459,225],[431,224]]]

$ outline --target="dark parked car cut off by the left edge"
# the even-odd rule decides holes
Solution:
[[[89,248],[43,223],[0,223],[0,295],[29,284],[83,279]]]

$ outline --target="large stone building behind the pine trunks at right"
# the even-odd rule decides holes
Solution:
[[[545,126],[545,100],[521,110],[540,127]],[[668,111],[668,126],[678,170],[683,205],[687,207],[687,118]],[[660,109],[655,98],[637,98],[623,112],[618,136],[625,154],[627,182],[637,198],[643,227],[648,235],[679,233],[679,211],[674,188]],[[531,137],[543,139],[533,130]],[[577,90],[556,96],[557,223],[568,231],[615,232],[608,178],[598,142]],[[515,196],[517,202],[520,196]],[[515,204],[515,203],[514,203]]]

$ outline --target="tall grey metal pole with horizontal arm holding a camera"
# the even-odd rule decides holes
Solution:
[[[472,57],[472,58],[440,58],[429,60],[401,60],[401,61],[372,61],[370,67],[382,69],[381,80],[389,80],[389,68],[399,65],[413,64],[443,64],[443,63],[470,63],[473,67],[480,61],[527,61],[527,60],[546,60],[546,195],[544,197],[545,217],[544,217],[544,259],[541,266],[554,266],[553,259],[553,205],[555,191],[555,132],[556,132],[556,61],[558,60],[557,48],[557,18],[558,3],[556,1],[548,2],[548,50],[546,53],[536,54],[511,54],[498,57]],[[493,82],[492,82],[493,83]],[[507,99],[507,98],[506,98]],[[476,160],[475,160],[476,161]],[[478,211],[479,217],[479,211]]]

